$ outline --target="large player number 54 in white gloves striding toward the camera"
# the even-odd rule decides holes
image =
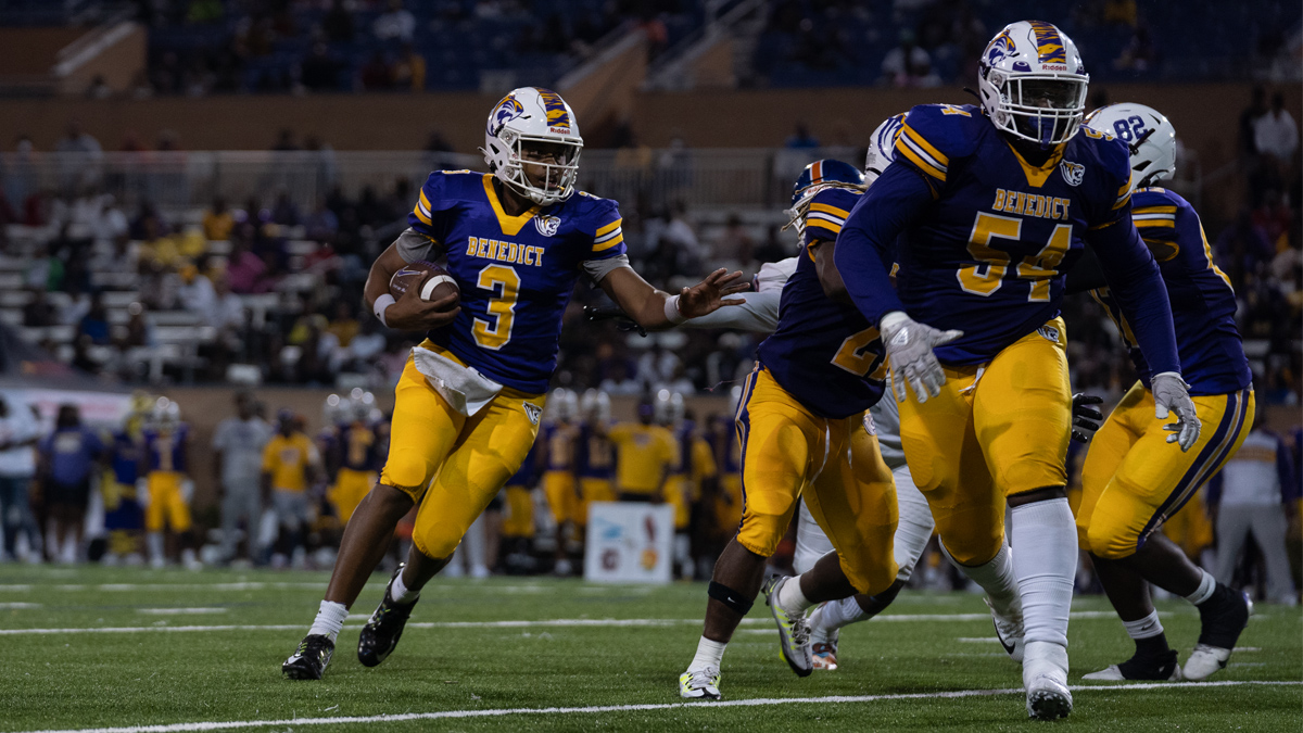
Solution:
[[[1153,368],[1156,413],[1177,413],[1182,450],[1199,421],[1157,265],[1131,223],[1127,150],[1081,128],[1089,77],[1076,46],[1050,23],[1016,22],[979,69],[980,106],[908,113],[895,162],[847,218],[835,265],[882,333],[906,459],[942,545],[986,590],[1002,642],[1022,659],[1028,715],[1055,719],[1072,707],[1078,554],[1058,313],[1062,273],[1084,244]]]

